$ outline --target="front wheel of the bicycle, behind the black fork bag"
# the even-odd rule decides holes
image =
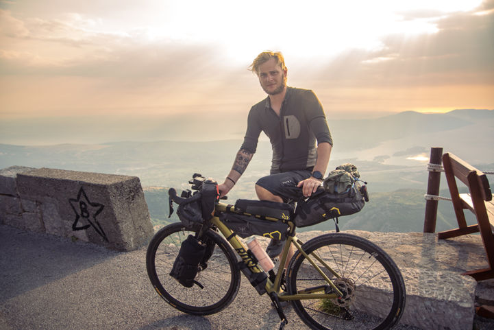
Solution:
[[[203,239],[216,246],[208,266],[199,271],[195,280],[203,286],[184,287],[171,277],[170,271],[182,241],[194,230],[180,222],[160,229],[149,242],[146,268],[154,289],[172,307],[193,315],[208,315],[225,309],[236,297],[240,287],[240,270],[234,251],[218,233],[209,229]]]

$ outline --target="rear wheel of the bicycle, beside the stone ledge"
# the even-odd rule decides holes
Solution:
[[[336,279],[316,261],[343,292],[340,298],[292,301],[301,320],[311,329],[383,330],[397,324],[403,315],[406,289],[402,273],[382,248],[362,237],[330,233],[314,237],[302,249],[321,257],[341,276]],[[288,293],[319,285],[324,285],[326,293],[334,292],[297,251],[288,266]]]

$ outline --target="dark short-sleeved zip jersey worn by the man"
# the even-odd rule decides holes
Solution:
[[[271,174],[312,169],[317,161],[317,143],[333,145],[321,102],[314,92],[287,87],[280,116],[269,97],[252,106],[247,119],[243,149],[255,153],[260,132],[273,147]]]

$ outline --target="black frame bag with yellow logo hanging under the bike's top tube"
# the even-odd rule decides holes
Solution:
[[[282,241],[288,232],[288,224],[282,221],[262,220],[252,215],[221,213],[219,220],[242,238],[259,235]]]

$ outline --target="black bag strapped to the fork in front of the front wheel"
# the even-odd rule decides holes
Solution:
[[[199,262],[202,261],[206,252],[206,245],[201,244],[193,235],[188,235],[185,241],[180,246],[173,267],[171,268],[170,276],[184,285],[184,287],[192,287],[195,283],[194,279],[199,272]]]

